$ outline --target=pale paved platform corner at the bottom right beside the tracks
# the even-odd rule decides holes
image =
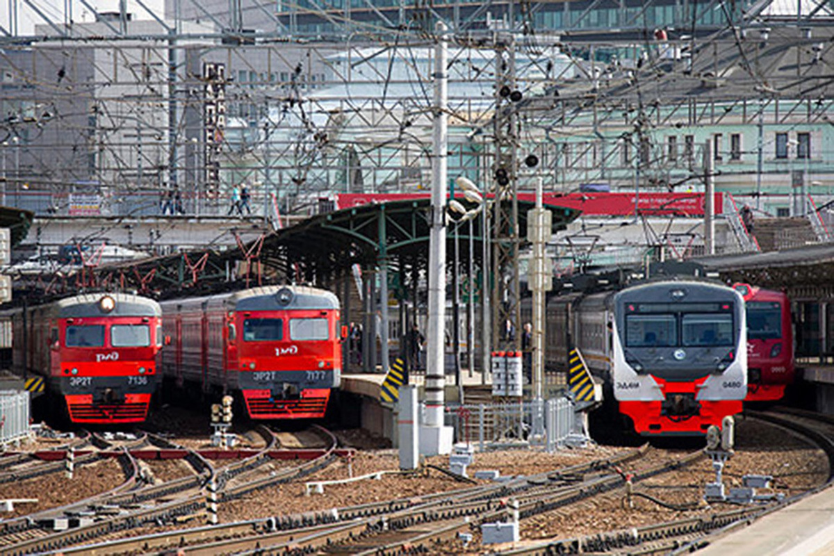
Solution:
[[[770,513],[697,553],[703,556],[831,556],[834,554],[834,488],[826,488]]]

